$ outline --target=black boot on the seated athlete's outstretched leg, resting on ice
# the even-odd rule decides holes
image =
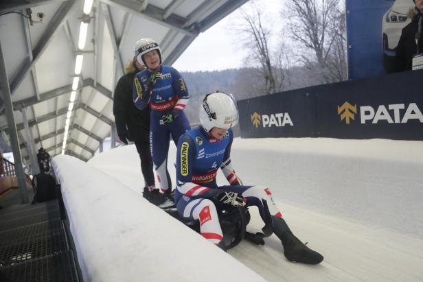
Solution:
[[[273,231],[281,240],[284,246],[284,255],[288,261],[306,264],[318,264],[323,261],[323,256],[319,252],[311,250],[295,237],[284,219],[272,216],[272,221]]]

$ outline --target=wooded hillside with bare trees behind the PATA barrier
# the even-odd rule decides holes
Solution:
[[[198,122],[207,93],[223,91],[242,100],[347,80],[344,0],[290,0],[279,15],[282,24],[275,26],[258,0],[238,10],[233,44],[248,50],[245,67],[181,72],[190,93],[185,113],[191,123]]]

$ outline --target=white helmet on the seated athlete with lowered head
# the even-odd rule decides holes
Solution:
[[[214,126],[228,129],[238,124],[238,107],[231,94],[215,92],[205,95],[200,105],[200,122],[205,131]]]

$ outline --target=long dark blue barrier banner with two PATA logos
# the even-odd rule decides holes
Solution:
[[[241,137],[423,140],[422,77],[404,71],[240,100]]]

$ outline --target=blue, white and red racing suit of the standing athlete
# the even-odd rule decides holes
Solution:
[[[170,136],[176,145],[179,137],[190,129],[190,122],[183,113],[188,99],[185,82],[172,67],[161,66],[159,71],[153,72],[144,69],[135,75],[134,104],[141,110],[147,106],[151,108],[150,150],[163,192],[172,187],[168,172]],[[163,123],[163,117],[168,114],[172,114],[173,120]]]

